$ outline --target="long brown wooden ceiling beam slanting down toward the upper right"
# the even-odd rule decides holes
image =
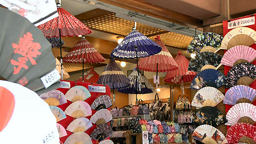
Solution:
[[[197,18],[190,17],[185,14],[181,14],[179,12],[175,12],[169,9],[165,9],[163,7],[147,3],[145,0],[98,0],[103,3],[115,5],[118,7],[122,7],[123,9],[127,9],[130,11],[139,12],[142,14],[149,15],[151,17],[155,17],[158,19],[166,20],[169,22],[174,22],[183,26],[195,28],[193,26],[202,26],[203,21]]]

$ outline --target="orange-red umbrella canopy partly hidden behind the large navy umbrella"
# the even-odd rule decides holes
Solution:
[[[162,47],[162,51],[158,54],[151,55],[150,57],[141,58],[138,63],[139,68],[151,72],[167,72],[170,70],[178,69],[179,67],[177,63],[161,41],[160,36],[157,36],[155,39],[156,44]]]

